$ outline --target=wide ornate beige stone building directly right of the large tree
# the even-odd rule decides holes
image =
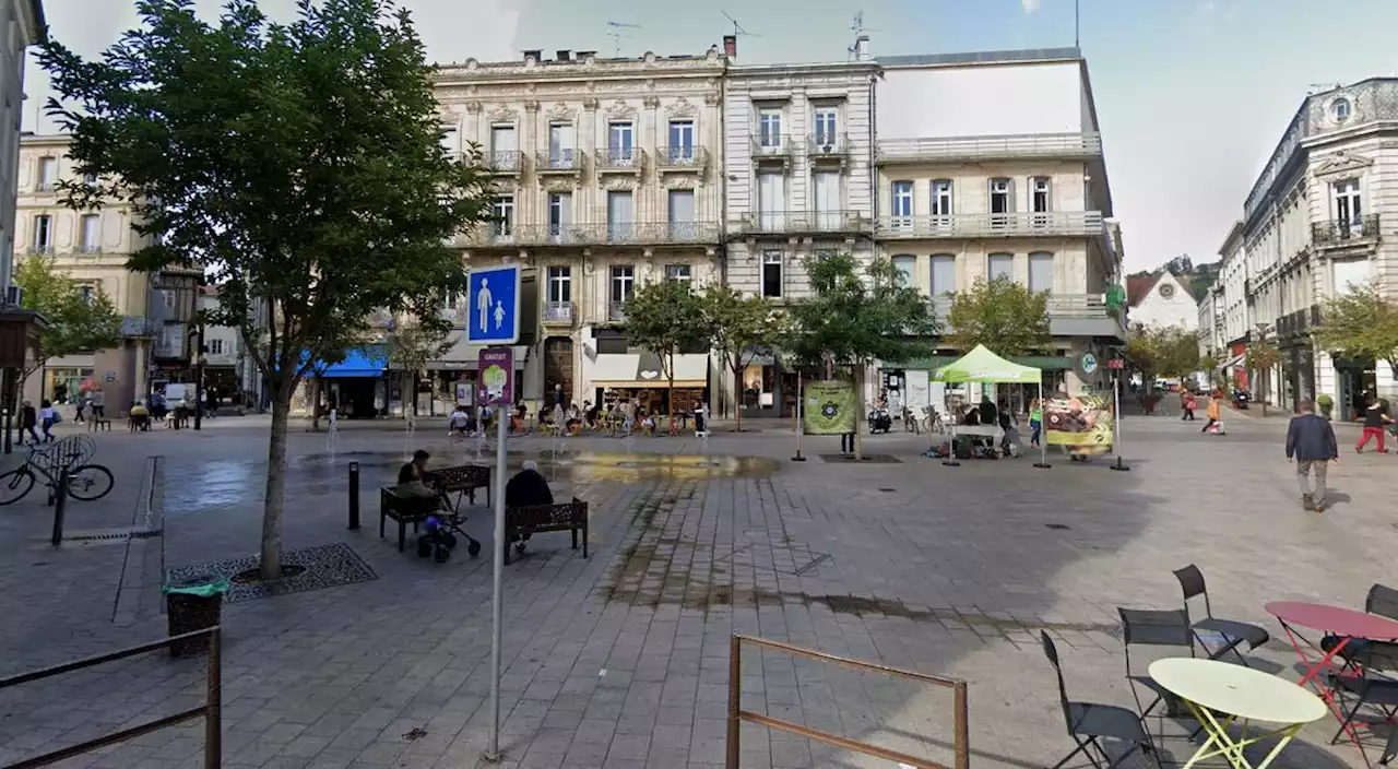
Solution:
[[[527,50],[438,71],[447,150],[482,152],[499,194],[495,221],[456,245],[468,266],[516,261],[537,280],[538,340],[516,352],[524,400],[559,389],[579,403],[603,390],[664,400],[665,378],[643,376],[626,344],[622,306],[646,281],[721,280],[726,66],[717,48]],[[477,355],[457,344],[443,376],[473,378]],[[710,368],[705,351],[681,357],[682,397],[703,397]]]

